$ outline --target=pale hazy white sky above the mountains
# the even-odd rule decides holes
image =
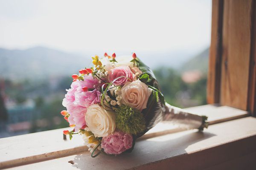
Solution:
[[[211,0],[0,0],[0,47],[201,51]]]

